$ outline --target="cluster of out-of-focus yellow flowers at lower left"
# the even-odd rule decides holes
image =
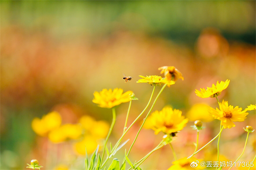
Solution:
[[[108,122],[96,121],[91,116],[82,116],[77,124],[61,125],[61,115],[56,111],[32,120],[32,130],[39,136],[47,136],[52,143],[74,140],[74,150],[80,155],[85,155],[86,150],[88,154],[93,153],[108,129]]]

